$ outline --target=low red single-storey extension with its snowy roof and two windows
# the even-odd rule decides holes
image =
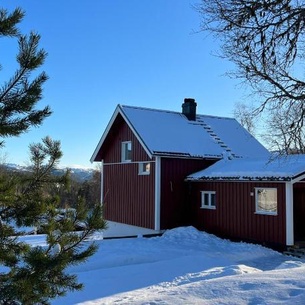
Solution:
[[[222,160],[188,176],[195,226],[273,246],[305,240],[305,156]],[[213,194],[213,206],[204,194]]]

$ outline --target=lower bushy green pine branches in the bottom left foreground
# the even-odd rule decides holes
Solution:
[[[62,152],[49,137],[32,144],[31,172],[0,176],[0,304],[48,304],[48,300],[79,290],[82,285],[66,268],[84,262],[97,246],[87,240],[104,229],[100,205],[88,210],[79,198],[73,209],[58,208],[59,198],[45,195],[45,186],[67,184],[67,175],[52,175]],[[76,232],[75,227],[82,227]],[[46,235],[44,247],[22,242],[20,228],[37,227]],[[16,303],[17,302],[17,303]]]

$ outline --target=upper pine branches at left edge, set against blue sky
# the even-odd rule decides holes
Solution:
[[[0,38],[11,37],[18,40],[18,69],[0,88],[0,137],[18,136],[31,126],[39,126],[51,114],[47,106],[42,110],[35,106],[42,98],[42,86],[48,79],[45,72],[31,78],[31,73],[40,68],[47,56],[38,49],[40,36],[31,32],[22,35],[17,28],[24,12],[17,8],[11,14],[0,9]],[[1,67],[1,66],[0,66]]]

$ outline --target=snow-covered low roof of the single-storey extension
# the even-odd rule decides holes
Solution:
[[[287,181],[304,178],[305,155],[270,156],[221,160],[210,167],[191,174],[197,180],[266,180]],[[299,180],[300,180],[299,179]]]

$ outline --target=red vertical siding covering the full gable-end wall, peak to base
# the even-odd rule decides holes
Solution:
[[[132,162],[121,163],[121,143],[132,142]],[[154,228],[155,164],[118,115],[102,148],[104,215],[107,220]],[[136,162],[150,161],[150,175],[138,175]]]

